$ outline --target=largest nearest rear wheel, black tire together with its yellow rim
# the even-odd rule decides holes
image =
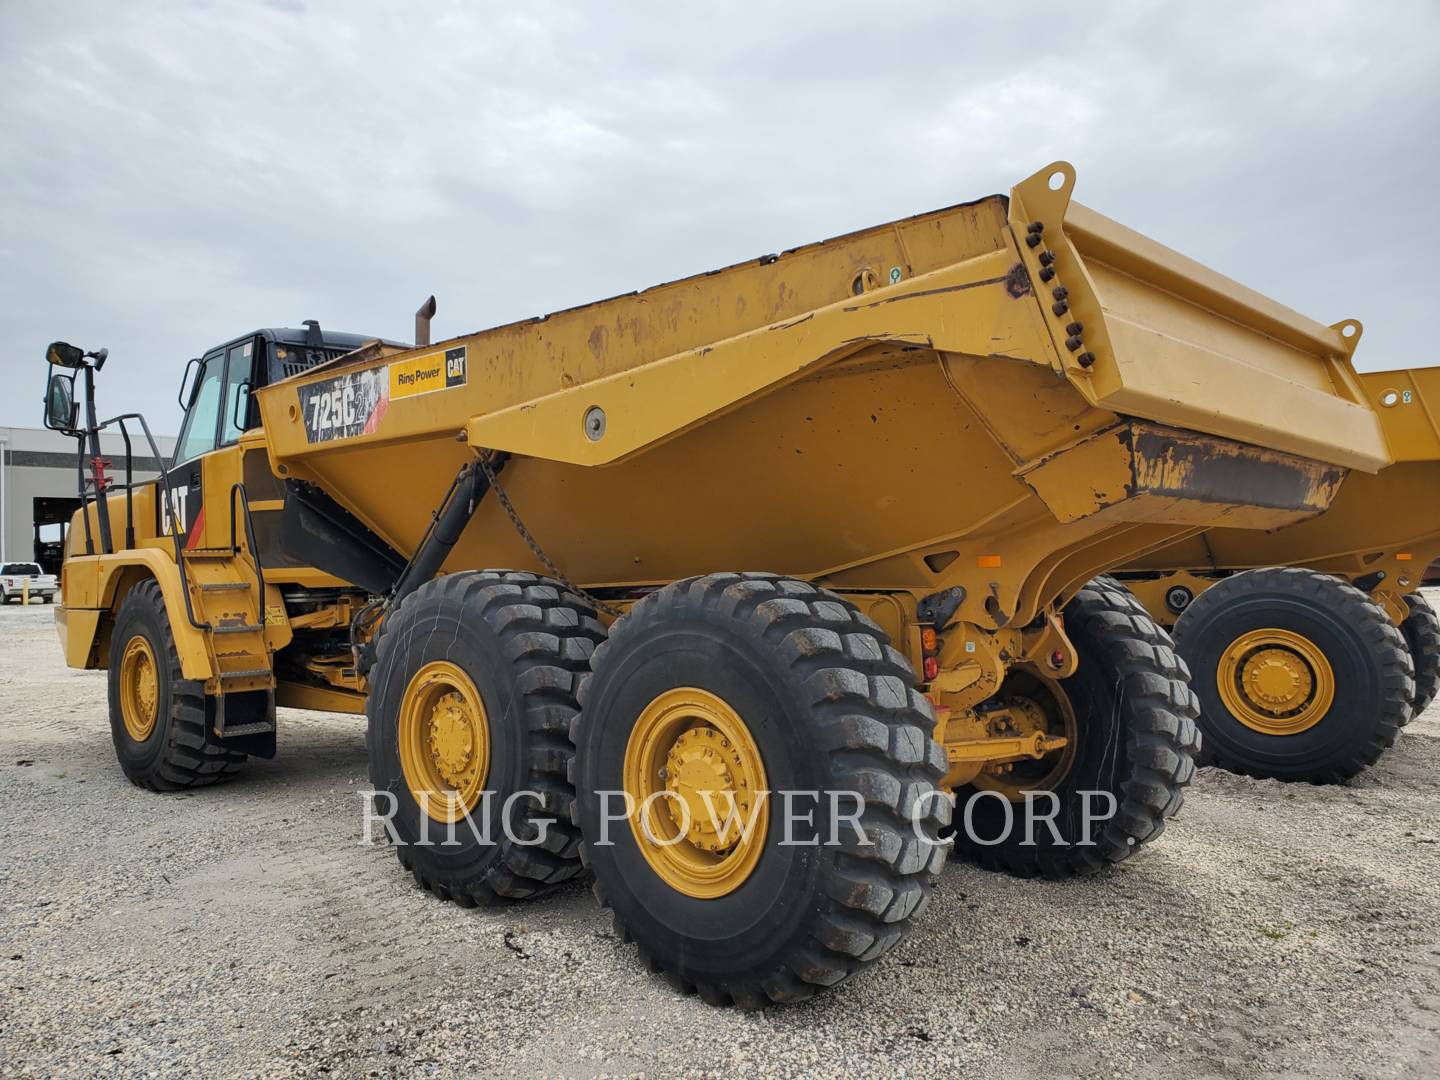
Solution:
[[[924,907],[949,821],[935,716],[841,598],[770,575],[675,582],[611,628],[580,700],[576,819],[595,894],[677,989],[799,1001],[888,952]],[[660,793],[658,809],[642,824],[602,792]],[[680,804],[697,792],[716,814],[687,829]],[[858,795],[858,829],[841,827],[855,804],[829,792]],[[749,832],[711,828],[732,808],[755,815]]]

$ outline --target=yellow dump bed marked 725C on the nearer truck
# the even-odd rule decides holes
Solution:
[[[456,468],[501,452],[577,582],[763,566],[919,592],[1009,559],[966,600],[994,618],[1117,546],[1312,516],[1388,462],[1358,324],[1287,311],[1071,203],[1073,181],[1060,163],[1008,199],[361,350],[261,392],[272,468],[403,554]],[[494,505],[449,566],[537,560]]]

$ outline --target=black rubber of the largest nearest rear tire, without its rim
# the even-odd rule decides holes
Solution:
[[[575,724],[582,854],[596,899],[651,971],[710,1004],[760,1008],[834,986],[894,948],[945,861],[950,804],[936,786],[935,714],[884,631],[806,582],[717,573],[636,603],[592,667]],[[713,899],[667,884],[624,816],[599,844],[598,792],[622,789],[636,717],[675,687],[736,708],[772,792],[858,792],[873,842],[847,828],[834,845],[783,845],[772,812],[755,870]],[[821,806],[821,835],[827,819]]]

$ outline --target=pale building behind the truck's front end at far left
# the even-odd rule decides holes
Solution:
[[[158,475],[160,465],[140,431],[130,435],[135,480]],[[176,441],[156,436],[161,458]],[[115,482],[125,480],[125,444],[118,432],[101,436]],[[88,475],[88,468],[86,468]],[[59,570],[60,540],[81,504],[75,439],[43,428],[0,428],[0,562],[37,562]]]

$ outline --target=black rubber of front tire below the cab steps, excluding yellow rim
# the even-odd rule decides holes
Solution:
[[[125,645],[137,635],[150,642],[160,680],[160,714],[144,742],[125,730],[120,707],[120,671]],[[160,585],[137,585],[120,603],[109,638],[109,734],[115,757],[137,788],[170,792],[204,788],[235,776],[245,755],[217,744],[206,733],[204,684],[180,671],[170,616]]]

